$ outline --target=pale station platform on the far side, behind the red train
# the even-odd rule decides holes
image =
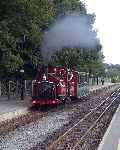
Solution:
[[[104,87],[114,85],[113,83],[105,83],[104,85],[90,86],[90,92],[93,92]],[[0,97],[0,122],[7,119],[12,119],[29,111],[31,97],[26,97],[25,100],[8,100]]]

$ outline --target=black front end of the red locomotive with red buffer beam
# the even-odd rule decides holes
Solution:
[[[32,104],[35,105],[55,105],[60,100],[56,98],[56,86],[52,82],[41,81],[33,83]]]

